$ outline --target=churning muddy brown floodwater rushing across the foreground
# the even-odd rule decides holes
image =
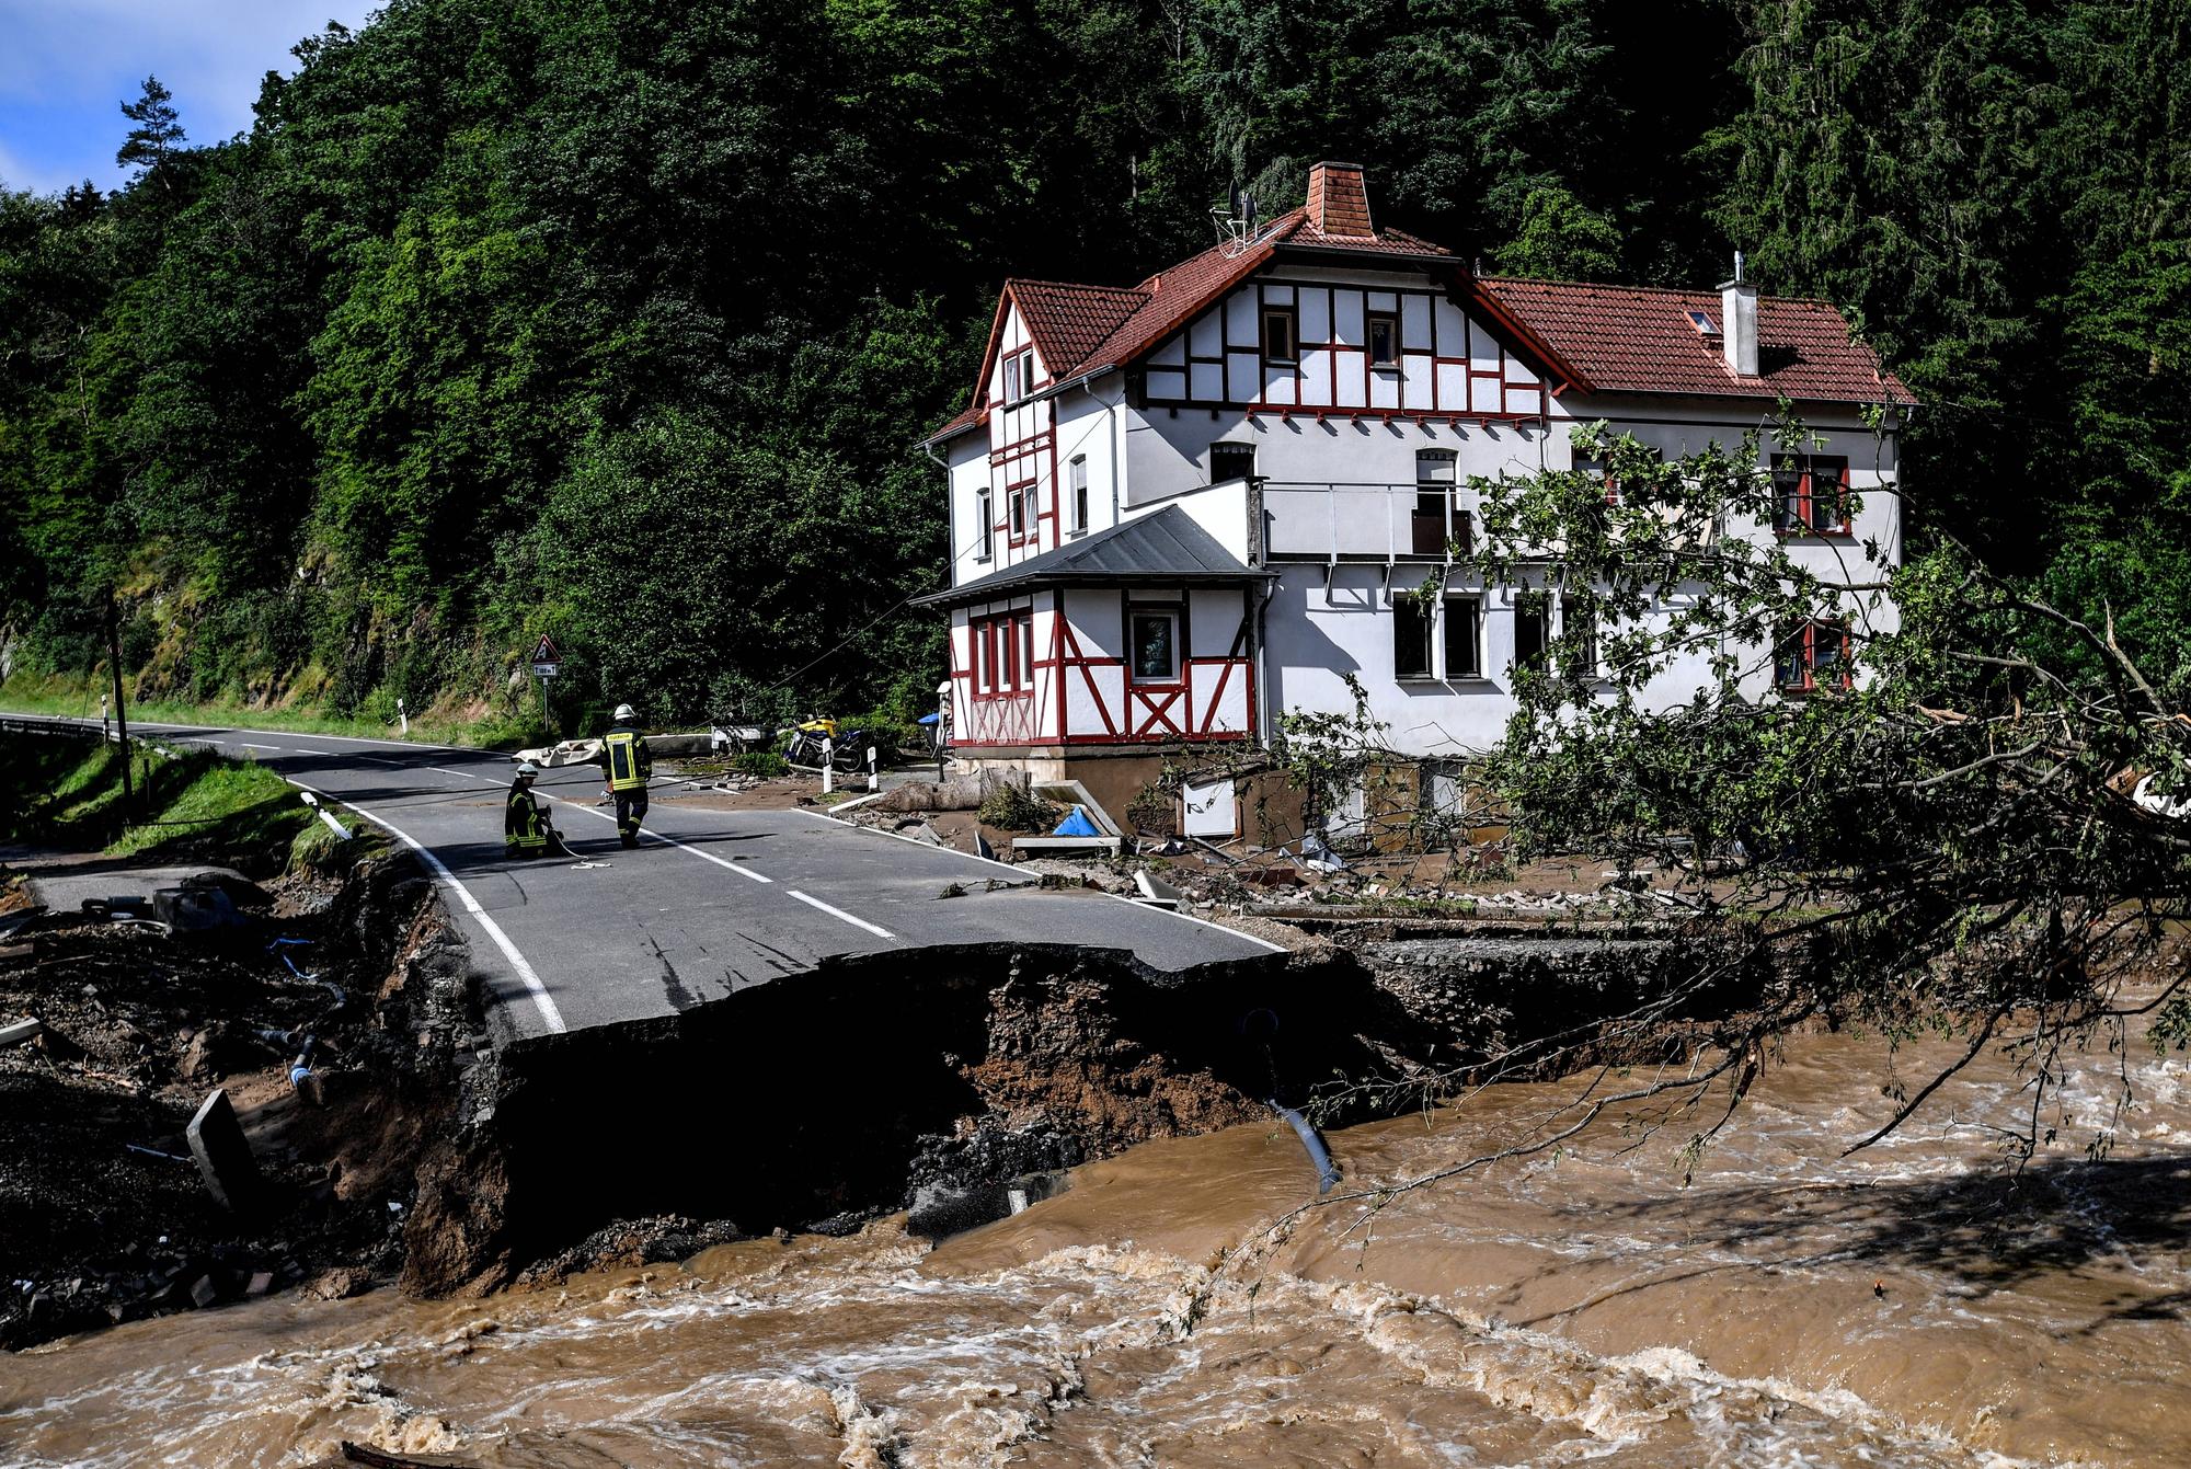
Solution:
[[[1926,1055],[1904,1052],[1915,1074]],[[2114,1151],[2123,1074],[2136,1107]],[[2191,1090],[2084,1057],[2003,1212],[1998,1063],[1904,1134],[1875,1044],[1801,1037],[1689,1127],[1299,1206],[1282,1127],[1159,1142],[929,1252],[890,1226],[421,1305],[272,1300],[0,1357],[0,1462],[2191,1462]],[[1332,1136],[1347,1186],[1542,1129],[1514,1085]],[[697,1166],[716,1160],[697,1158]],[[1998,1221],[2011,1219],[2007,1230]]]

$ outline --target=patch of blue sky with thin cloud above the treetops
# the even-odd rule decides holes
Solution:
[[[252,125],[259,79],[329,20],[353,31],[383,0],[0,0],[0,184],[48,193],[114,167],[147,75],[167,83],[191,143]]]

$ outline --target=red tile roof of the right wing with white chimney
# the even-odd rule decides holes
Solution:
[[[1823,300],[1757,300],[1757,377],[1737,377],[1720,349],[1718,292],[1670,292],[1575,281],[1485,276],[1477,296],[1547,346],[1586,392],[1694,392],[1823,403],[1911,403],[1878,353],[1849,335]],[[1711,322],[1705,335],[1689,320]]]

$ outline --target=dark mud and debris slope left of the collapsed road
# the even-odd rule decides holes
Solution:
[[[221,934],[44,914],[11,936],[0,1017],[46,1030],[0,1050],[0,1346],[300,1283],[355,1291],[401,1259],[412,1164],[475,1026],[460,949],[401,859],[259,899]],[[237,1212],[184,1140],[215,1087],[261,1169]]]

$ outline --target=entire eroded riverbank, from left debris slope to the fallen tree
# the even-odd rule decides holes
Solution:
[[[311,941],[294,949],[309,973],[267,952],[274,934]],[[1591,1028],[1696,963],[1667,934],[1372,930],[1188,973],[968,945],[839,958],[482,1061],[462,934],[405,855],[291,864],[228,943],[48,914],[0,960],[0,1002],[48,1024],[37,1050],[0,1057],[7,1274],[31,1280],[0,1305],[0,1344],[294,1285],[486,1291],[898,1208],[949,1234],[1065,1169],[1264,1118],[1273,1098],[1345,1123],[1490,1057],[1610,1057]],[[1742,989],[1619,1033],[1621,1059],[1694,1046]],[[305,1033],[316,1079],[298,1092]],[[186,1158],[213,1087],[267,1180],[245,1215]]]

